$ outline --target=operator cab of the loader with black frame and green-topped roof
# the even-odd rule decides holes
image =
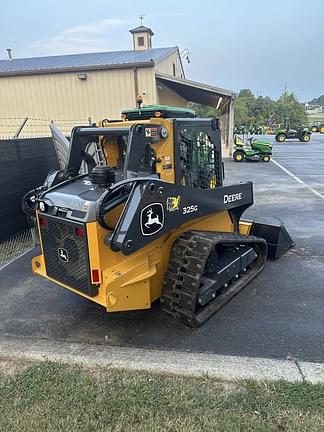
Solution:
[[[195,118],[191,109],[166,105],[125,110],[120,121],[74,127],[61,168],[65,179],[89,174],[101,187],[150,176],[215,188],[223,177],[218,120]]]

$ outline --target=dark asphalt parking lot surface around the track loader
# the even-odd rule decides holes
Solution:
[[[107,314],[33,276],[30,252],[0,272],[0,337],[324,362],[324,135],[275,143],[273,159],[226,160],[226,182],[252,180],[255,204],[245,215],[279,218],[296,245],[203,327],[179,324],[158,303]]]

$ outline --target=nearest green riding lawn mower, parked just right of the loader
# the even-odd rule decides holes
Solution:
[[[271,160],[272,145],[269,141],[251,137],[244,142],[240,136],[235,135],[234,144],[233,159],[235,162],[244,160],[269,162]]]

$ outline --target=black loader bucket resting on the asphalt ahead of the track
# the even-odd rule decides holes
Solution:
[[[288,234],[288,231],[281,223],[256,222],[254,221],[250,231],[251,235],[262,237],[268,245],[268,258],[278,259],[288,249],[295,245],[295,242]]]

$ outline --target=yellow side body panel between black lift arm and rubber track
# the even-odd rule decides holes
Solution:
[[[190,230],[232,232],[233,224],[228,212],[223,211],[186,223],[130,256],[117,253],[120,262],[103,271],[107,311],[146,309],[159,299],[173,243]]]

